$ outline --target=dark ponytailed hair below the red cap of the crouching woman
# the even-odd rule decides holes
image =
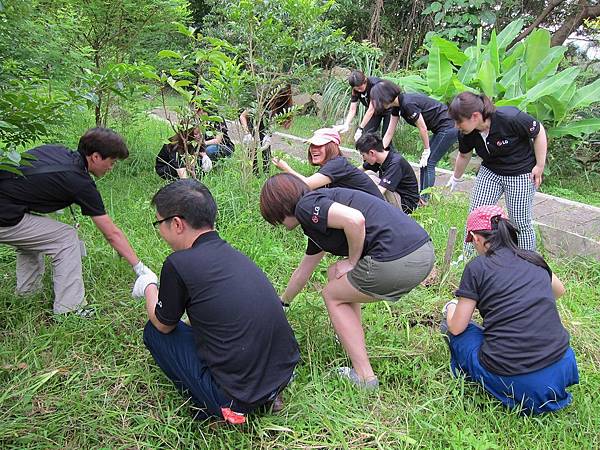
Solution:
[[[544,258],[536,252],[524,250],[519,247],[517,229],[508,219],[495,216],[491,218],[491,224],[491,230],[472,231],[472,233],[483,237],[486,244],[488,244],[485,256],[491,256],[501,248],[508,248],[519,258],[546,270],[550,277],[552,277],[552,270],[550,270]]]

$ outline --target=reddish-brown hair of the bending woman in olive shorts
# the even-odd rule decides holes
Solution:
[[[271,225],[293,217],[296,204],[310,189],[300,178],[279,173],[268,178],[260,191],[260,214]]]

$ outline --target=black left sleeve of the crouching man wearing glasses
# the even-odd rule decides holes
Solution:
[[[167,258],[160,271],[156,318],[165,325],[175,325],[183,316],[189,295],[173,264]]]

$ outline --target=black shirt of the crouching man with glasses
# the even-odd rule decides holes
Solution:
[[[289,381],[299,352],[279,297],[265,274],[216,231],[167,257],[158,298],[156,317],[165,325],[187,311],[198,355],[233,399],[264,402]]]

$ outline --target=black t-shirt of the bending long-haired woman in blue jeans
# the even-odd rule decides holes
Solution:
[[[454,128],[454,121],[448,115],[448,107],[437,100],[423,94],[400,94],[399,107],[392,108],[392,116],[402,116],[409,125],[416,126],[419,114],[427,129],[439,133],[448,128]]]

